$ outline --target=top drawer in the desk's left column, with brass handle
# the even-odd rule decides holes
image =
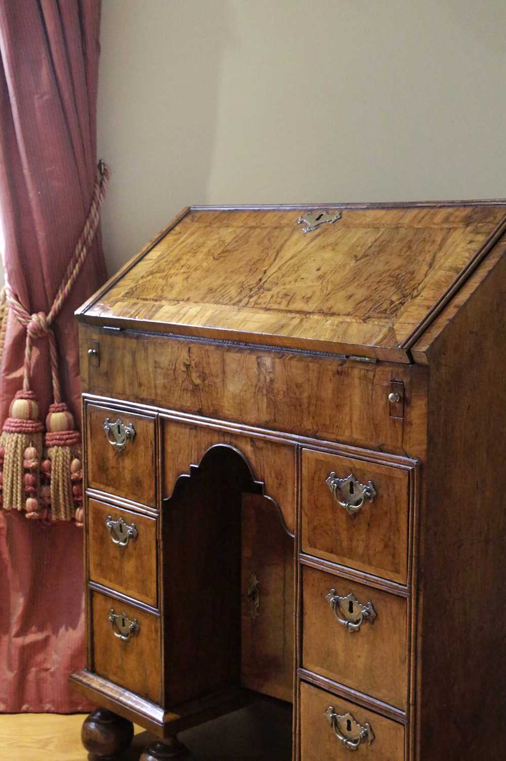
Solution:
[[[93,404],[87,405],[86,414],[87,485],[153,507],[154,417]],[[109,431],[104,429],[104,424],[114,423]]]

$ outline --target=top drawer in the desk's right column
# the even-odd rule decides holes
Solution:
[[[368,482],[373,500],[350,514],[327,486],[331,473],[356,479],[341,486],[340,501],[358,506]],[[303,552],[406,584],[409,486],[410,470],[302,450]]]

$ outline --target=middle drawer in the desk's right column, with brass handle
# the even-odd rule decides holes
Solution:
[[[305,669],[405,711],[407,632],[405,597],[302,568]]]

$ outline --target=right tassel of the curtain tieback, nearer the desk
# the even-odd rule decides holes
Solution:
[[[82,525],[82,487],[75,483],[78,479],[72,478],[77,472],[75,466],[72,470],[74,460],[78,460],[77,470],[81,470],[81,434],[74,430],[74,418],[65,403],[49,406],[46,431],[46,460],[42,470],[43,479],[49,481],[49,489],[44,490],[43,499],[51,504],[53,521],[68,521],[75,517]],[[74,492],[76,486],[79,489]],[[76,508],[81,508],[81,514],[76,514]]]

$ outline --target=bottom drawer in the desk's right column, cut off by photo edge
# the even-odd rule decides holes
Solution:
[[[349,761],[349,751],[357,750],[353,747],[356,743],[368,761],[405,758],[403,724],[304,682],[300,686],[300,733],[302,761]],[[357,739],[360,734],[362,740]],[[346,747],[346,740],[352,747]]]

